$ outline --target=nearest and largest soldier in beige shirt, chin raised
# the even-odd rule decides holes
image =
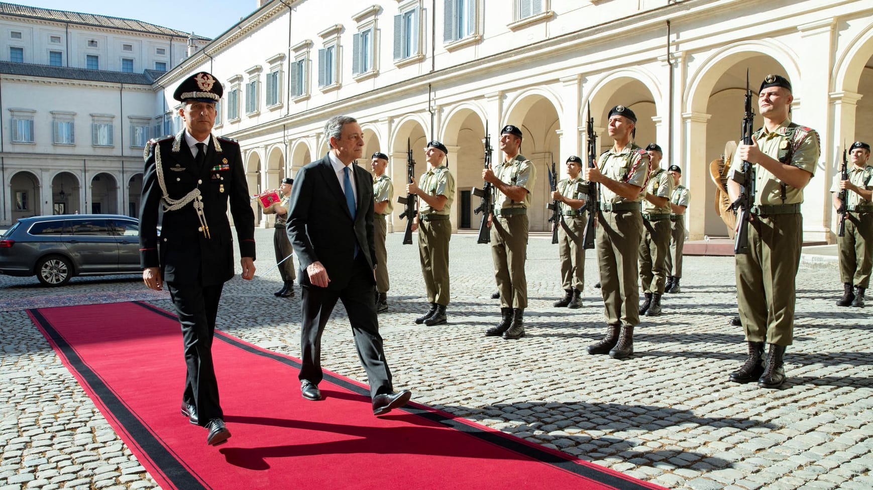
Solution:
[[[785,382],[783,357],[793,340],[794,278],[803,241],[803,187],[812,179],[820,155],[815,130],[789,119],[792,100],[788,80],[767,75],[758,96],[764,126],[753,134],[752,145],[739,145],[731,162],[732,172],[739,171],[744,160],[753,164],[755,195],[748,222],[749,251],[736,255],[739,317],[749,357],[730,379],[757,380],[764,388]],[[736,201],[739,184],[728,179],[727,191]]]

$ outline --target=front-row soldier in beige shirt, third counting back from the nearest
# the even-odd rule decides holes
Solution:
[[[521,130],[517,126],[508,125],[500,130],[499,145],[504,160],[494,170],[482,171],[482,178],[494,186],[494,213],[488,217],[488,223],[501,316],[500,323],[488,329],[485,335],[502,335],[512,340],[525,336],[527,209],[531,207],[531,189],[537,173],[531,160],[519,153]]]

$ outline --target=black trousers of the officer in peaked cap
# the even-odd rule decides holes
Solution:
[[[200,425],[223,419],[218,400],[218,382],[212,364],[212,337],[216,329],[218,302],[223,283],[214,286],[167,282],[167,290],[182,324],[185,352],[185,391],[182,401],[197,407]]]

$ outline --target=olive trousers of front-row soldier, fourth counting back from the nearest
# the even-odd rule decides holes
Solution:
[[[422,262],[428,303],[449,304],[449,241],[451,221],[419,221],[418,255]]]

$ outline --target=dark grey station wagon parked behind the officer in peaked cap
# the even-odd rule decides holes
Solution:
[[[0,274],[37,276],[45,286],[141,270],[139,221],[120,214],[33,216],[0,237]]]

